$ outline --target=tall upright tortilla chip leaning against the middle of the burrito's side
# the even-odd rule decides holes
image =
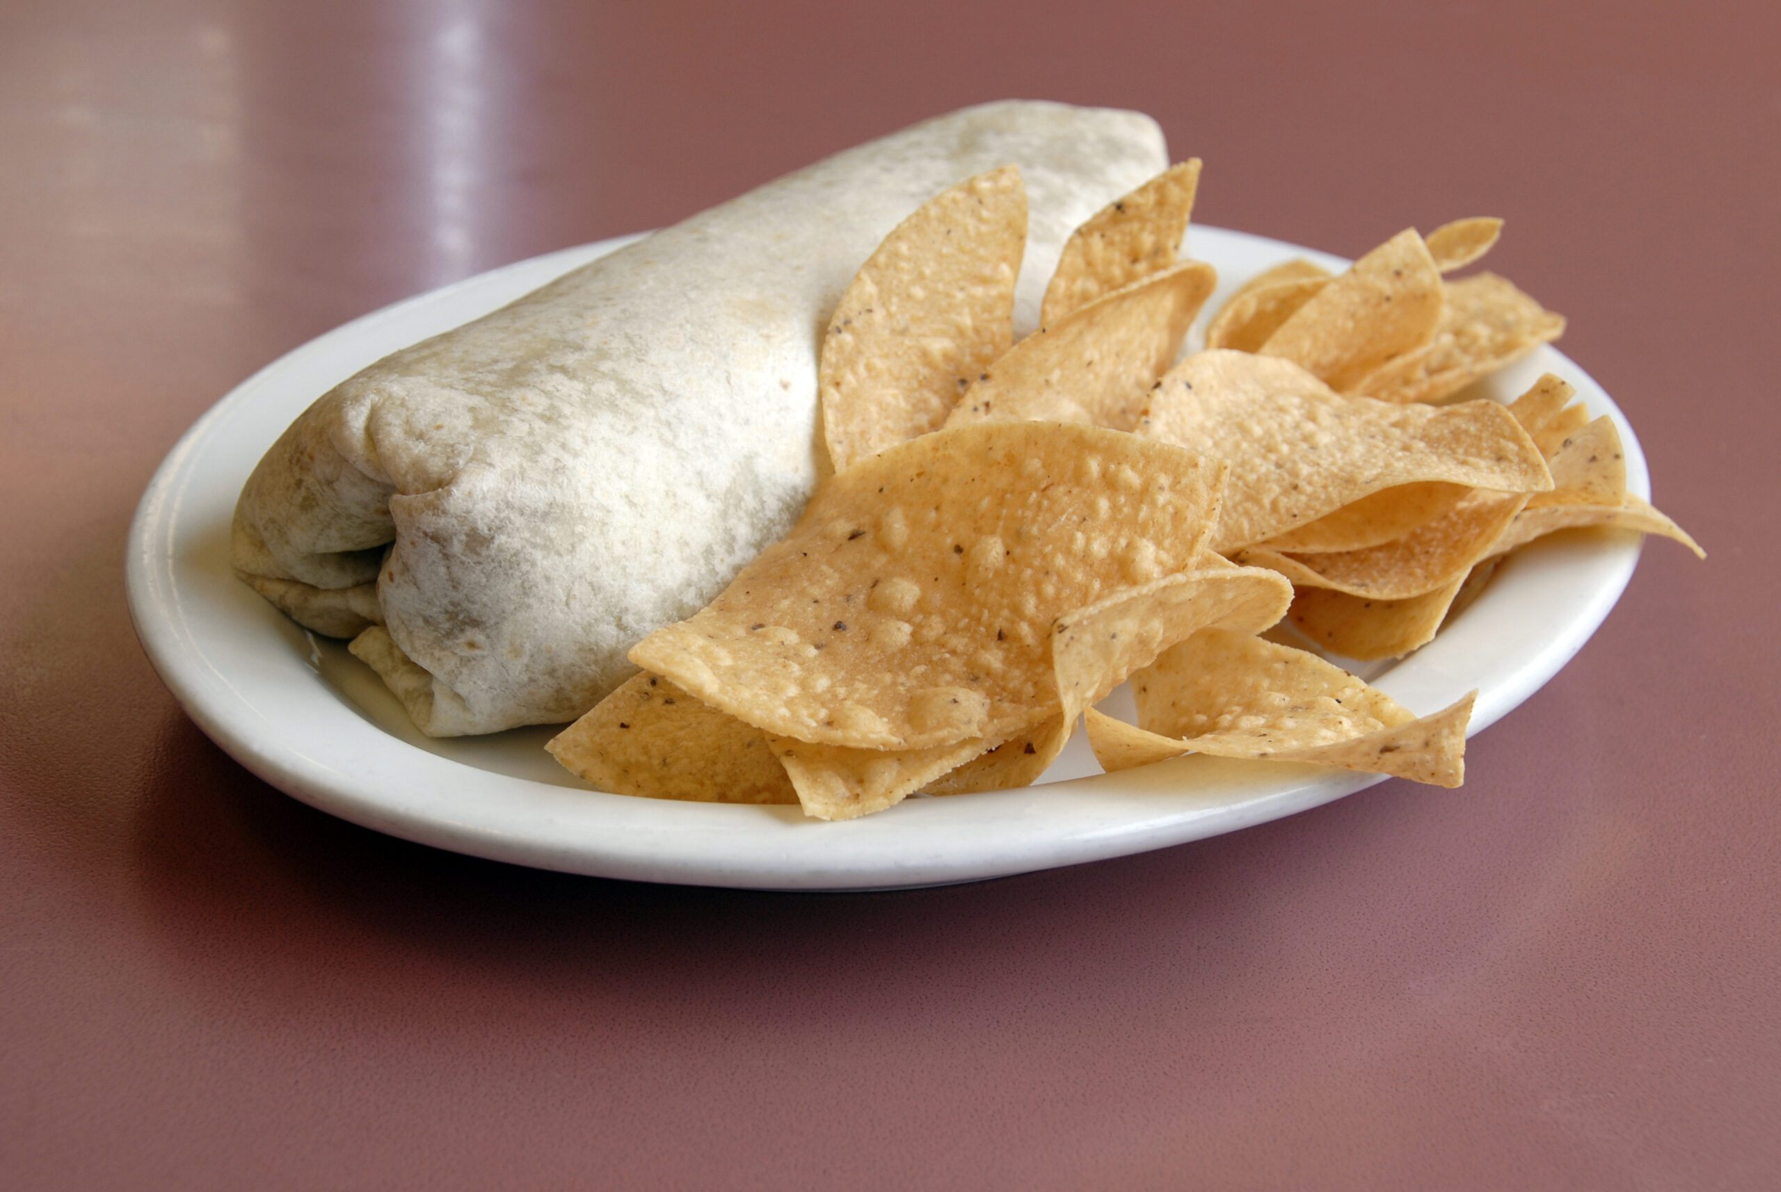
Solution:
[[[1026,187],[1003,165],[930,199],[841,297],[817,368],[835,471],[939,429],[1013,345]]]

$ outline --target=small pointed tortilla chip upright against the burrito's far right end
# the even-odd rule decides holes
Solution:
[[[1049,327],[1072,310],[1174,265],[1199,185],[1195,157],[1170,165],[1078,228],[1045,286],[1040,326]]]

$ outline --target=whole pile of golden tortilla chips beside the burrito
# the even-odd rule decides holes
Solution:
[[[1694,543],[1564,381],[1432,404],[1564,329],[1500,278],[1443,276],[1500,221],[1403,231],[1339,276],[1272,269],[1179,358],[1216,285],[1177,260],[1199,173],[1083,224],[1021,342],[1015,167],[892,231],[823,342],[835,475],[630,651],[643,671],[550,742],[563,765],[839,820],[1031,783],[1086,715],[1108,770],[1209,753],[1457,786],[1469,696],[1418,717],[1277,626],[1396,656],[1551,530]],[[1094,710],[1127,681],[1136,726]]]

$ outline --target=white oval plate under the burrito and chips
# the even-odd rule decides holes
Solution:
[[[228,568],[235,496],[265,448],[321,393],[625,242],[508,265],[329,331],[237,386],[162,463],[130,528],[130,614],[175,697],[244,767],[322,811],[440,849],[573,874],[764,890],[924,886],[1097,861],[1261,824],[1384,781],[1204,756],[1101,774],[1078,731],[1040,785],[910,799],[862,820],[825,824],[798,808],[590,790],[541,749],[552,728],[452,740],[417,733],[340,642],[306,633],[235,580]],[[1191,251],[1218,269],[1208,311],[1289,256],[1346,263],[1200,226]],[[1204,315],[1190,336],[1199,342]],[[1647,496],[1631,427],[1562,354],[1539,349],[1480,388],[1507,400],[1542,372],[1571,381],[1592,416],[1615,416],[1628,486]],[[1418,713],[1476,689],[1469,729],[1476,733],[1589,640],[1631,578],[1639,543],[1626,532],[1535,543],[1500,568],[1434,642],[1362,674]],[[1120,712],[1122,696],[1111,712]]]

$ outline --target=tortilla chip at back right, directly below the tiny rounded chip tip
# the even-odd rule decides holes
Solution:
[[[1560,334],[1562,315],[1544,310],[1496,274],[1448,281],[1446,310],[1434,338],[1384,361],[1350,388],[1382,402],[1437,402]]]

